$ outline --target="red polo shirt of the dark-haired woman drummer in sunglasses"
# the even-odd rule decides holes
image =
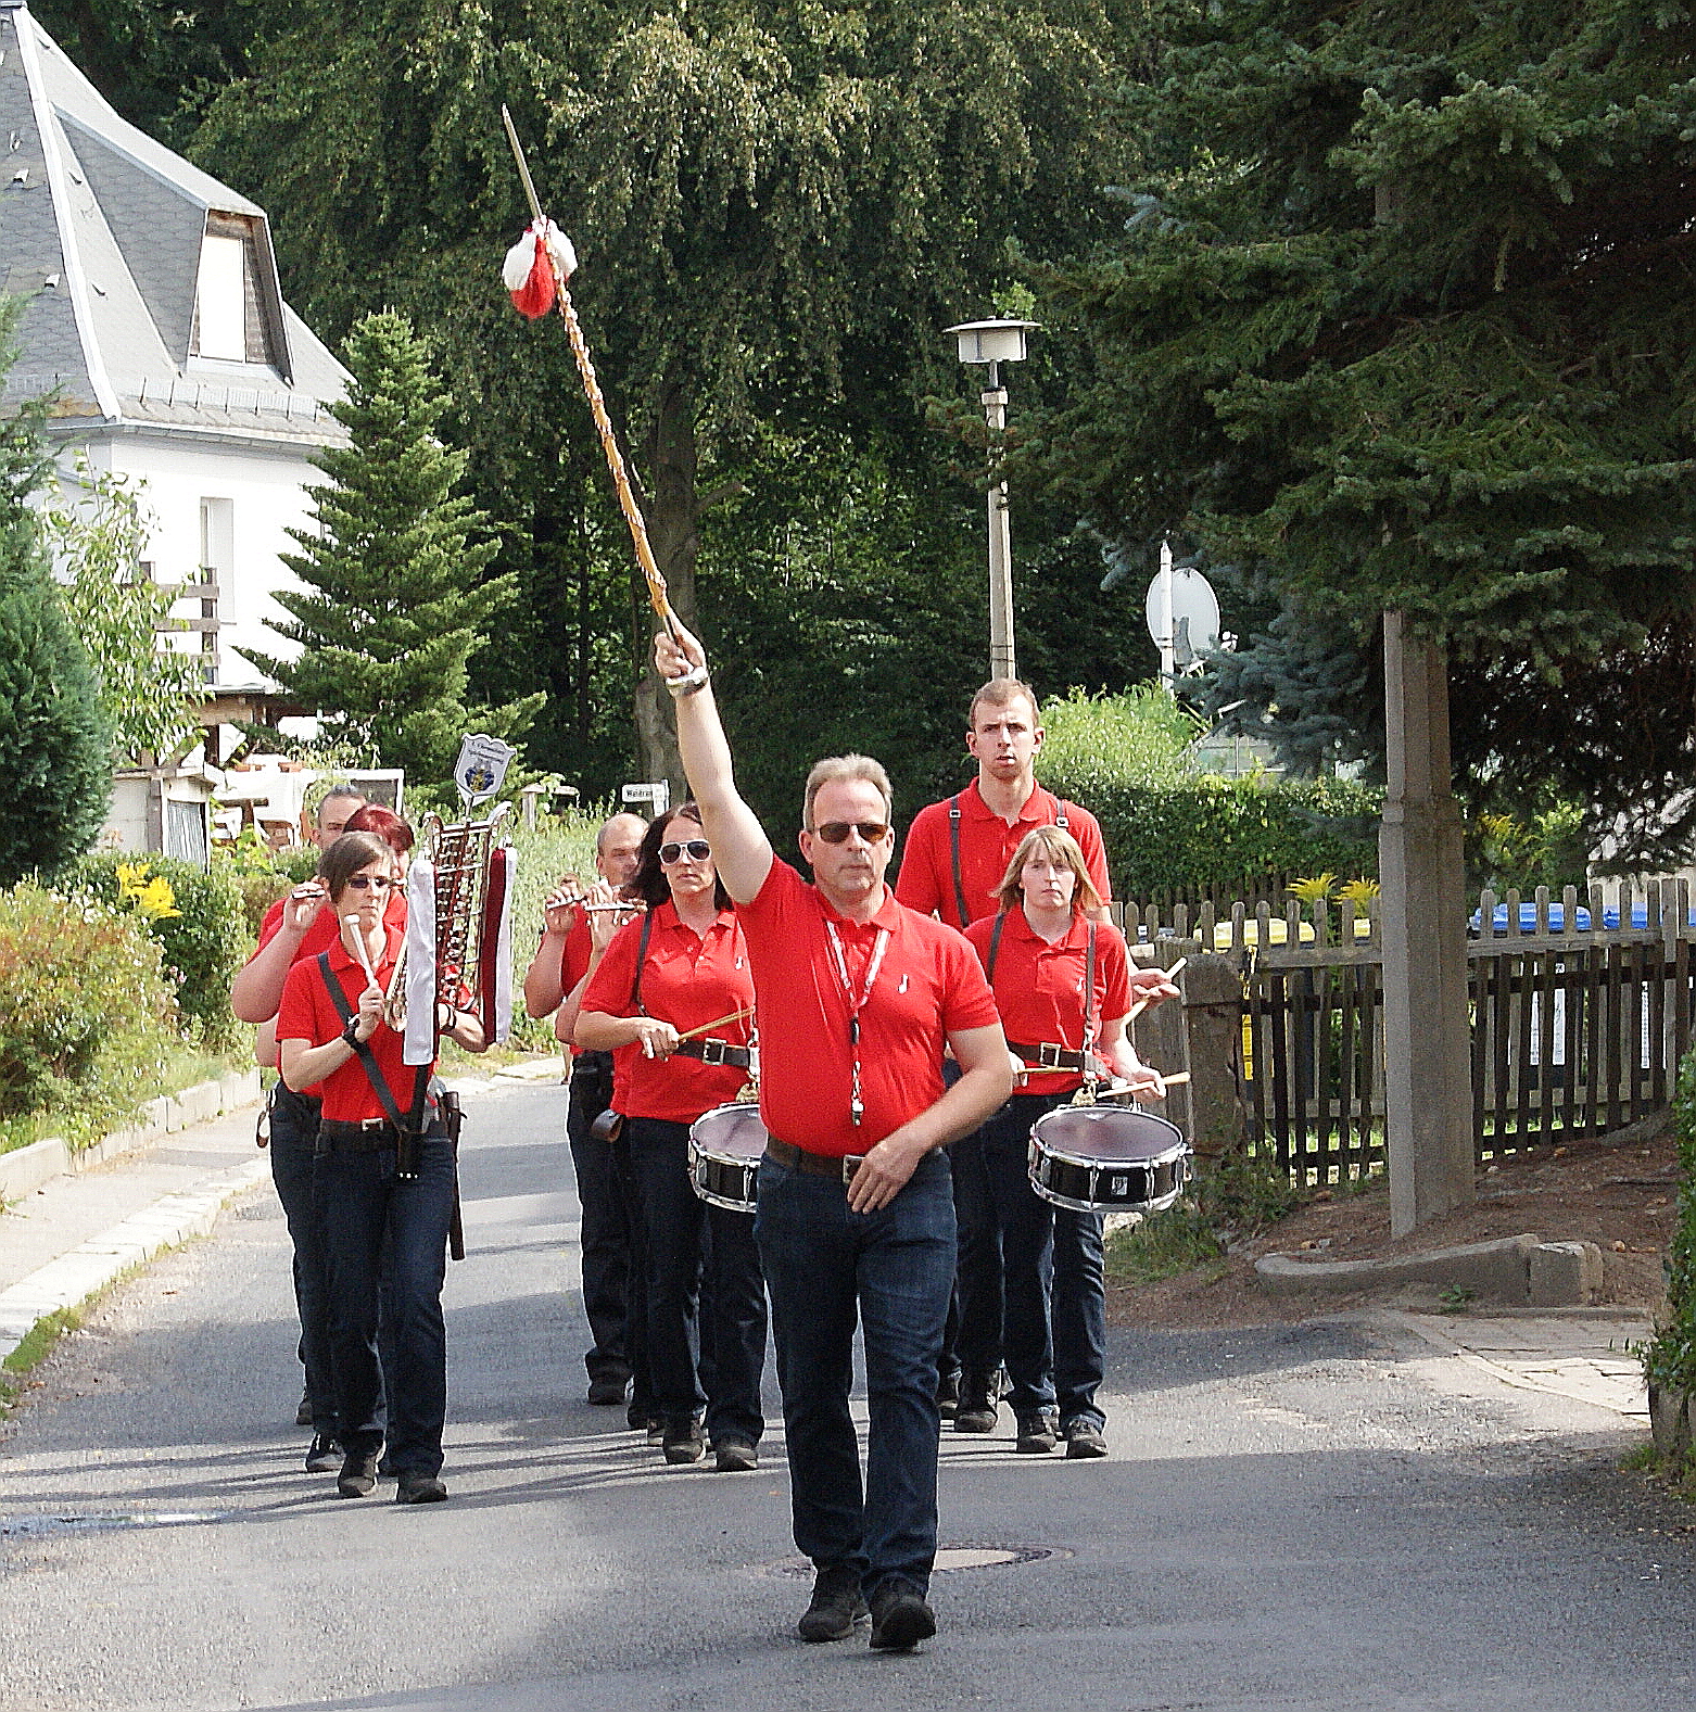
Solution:
[[[641,1012],[630,1003],[641,921],[627,921],[606,947],[584,990],[582,1010],[606,1017],[660,1017],[687,1034],[754,1003],[749,948],[733,909],[721,909],[706,936],[678,921],[675,904],[660,904],[649,916],[653,931],[642,966]],[[735,1046],[747,1046],[754,1037],[749,1019],[720,1024],[709,1032]],[[735,1065],[704,1065],[677,1053],[649,1058],[641,1046],[620,1046],[613,1053],[613,1111],[627,1118],[694,1123],[702,1111],[735,1099],[747,1079],[747,1070]]]

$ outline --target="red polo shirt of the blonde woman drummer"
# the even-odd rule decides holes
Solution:
[[[995,918],[983,916],[966,928],[966,938],[988,969]],[[1031,931],[1023,909],[1007,911],[1000,930],[992,976],[1000,1025],[1021,1046],[1083,1046],[1083,983],[1090,964],[1090,923],[1072,916],[1066,938],[1050,945]],[[1095,1029],[1131,1010],[1131,959],[1124,935],[1105,923],[1095,930]],[[1043,1075],[1031,1082],[1033,1094],[1069,1094],[1083,1085],[1081,1075]]]

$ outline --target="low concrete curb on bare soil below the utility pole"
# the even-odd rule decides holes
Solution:
[[[1602,1251],[1595,1243],[1545,1243],[1526,1233],[1389,1260],[1263,1255],[1254,1275],[1273,1296],[1424,1289],[1466,1291],[1509,1306],[1578,1308],[1593,1303],[1602,1286]]]

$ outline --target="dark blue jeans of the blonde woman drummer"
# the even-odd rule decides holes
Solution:
[[[1105,1424],[1095,1394],[1107,1361],[1102,1216],[1043,1200],[1030,1181],[1031,1125],[1069,1094],[1014,1094],[971,1140],[970,1197],[1000,1289],[994,1308],[1012,1412],[1060,1411],[1060,1423]],[[982,1197],[982,1207],[980,1207]]]

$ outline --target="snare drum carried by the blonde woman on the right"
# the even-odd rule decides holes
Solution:
[[[1184,1132],[1151,1111],[1057,1106],[1031,1128],[1031,1188],[1074,1212],[1165,1212],[1187,1161]]]

